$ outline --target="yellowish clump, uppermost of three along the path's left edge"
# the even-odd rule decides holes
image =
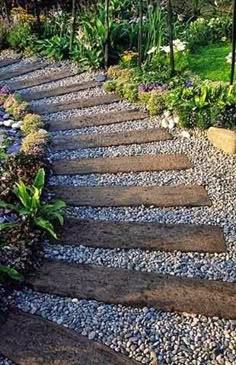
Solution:
[[[10,94],[3,104],[7,113],[19,120],[27,111],[29,104],[23,101],[20,95]]]

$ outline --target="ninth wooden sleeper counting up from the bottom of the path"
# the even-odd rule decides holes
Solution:
[[[98,86],[99,84],[96,81],[85,81],[80,83],[76,82],[71,85],[57,86],[55,88],[50,88],[48,90],[32,91],[31,93],[24,95],[24,99],[26,101],[40,100],[44,98],[70,94],[82,90],[89,90]]]

